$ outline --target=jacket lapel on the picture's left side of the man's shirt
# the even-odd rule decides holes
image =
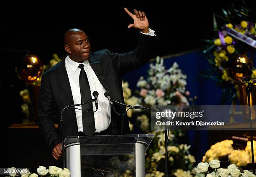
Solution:
[[[60,87],[64,91],[65,95],[67,95],[68,102],[70,103],[70,105],[74,105],[72,90],[71,90],[70,83],[69,83],[69,77],[67,75],[67,70],[66,70],[66,67],[65,67],[65,60],[66,59],[63,59],[59,62],[59,67],[58,67],[58,72],[57,72],[57,79],[59,81]],[[75,121],[77,121],[74,109],[72,109],[72,113],[74,115]]]

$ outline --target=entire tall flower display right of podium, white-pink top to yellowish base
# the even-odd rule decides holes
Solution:
[[[174,62],[172,67],[165,69],[164,60],[156,57],[156,62],[150,64],[148,76],[143,76],[137,82],[136,90],[132,95],[128,82],[123,82],[125,103],[151,107],[154,105],[189,105],[186,90],[187,76]],[[128,109],[128,108],[127,108]],[[142,133],[154,134],[155,137],[146,152],[146,177],[163,177],[165,170],[165,137],[160,131],[150,130],[150,112],[128,110],[131,130],[139,127]],[[138,129],[136,129],[138,130]],[[184,137],[182,131],[169,131],[168,136],[168,169],[172,177],[190,177],[195,157],[189,152],[190,145],[179,142]],[[124,175],[125,176],[125,175]]]

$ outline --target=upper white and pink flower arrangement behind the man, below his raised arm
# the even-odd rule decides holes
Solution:
[[[189,105],[187,97],[189,91],[186,90],[187,76],[179,69],[179,65],[174,62],[172,67],[165,69],[164,59],[156,57],[156,63],[150,64],[148,77],[143,76],[137,82],[137,87],[140,90],[135,91],[132,95],[129,89],[128,82],[123,82],[123,95],[125,103],[128,105],[151,107],[154,105]],[[126,108],[128,110],[128,107]],[[149,117],[150,112],[141,110],[128,110],[128,117],[136,117],[140,123],[140,128],[143,132],[150,132]],[[133,125],[130,123],[130,128]]]

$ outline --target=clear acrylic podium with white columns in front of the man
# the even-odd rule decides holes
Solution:
[[[108,164],[108,175],[145,177],[145,151],[154,135],[72,136],[64,140],[65,163],[71,177],[81,177],[81,162],[93,170]],[[104,163],[100,163],[104,162]],[[110,167],[109,167],[110,166]]]

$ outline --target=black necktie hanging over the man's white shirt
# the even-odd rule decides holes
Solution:
[[[80,75],[79,75],[79,85],[80,85],[81,103],[82,103],[92,99],[92,96],[91,96],[89,81],[88,81],[86,72],[84,71],[84,65],[79,64],[79,68],[81,68]],[[94,115],[93,113],[91,113],[93,112],[92,102],[82,105],[82,110],[90,111],[90,112],[82,111],[83,132],[85,135],[92,135],[95,132]]]

